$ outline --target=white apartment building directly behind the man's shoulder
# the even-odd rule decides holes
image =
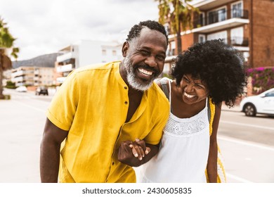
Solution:
[[[76,68],[96,63],[107,63],[122,60],[122,44],[117,42],[102,42],[80,40],[70,44],[58,53],[56,58],[56,84],[62,84],[65,77]]]

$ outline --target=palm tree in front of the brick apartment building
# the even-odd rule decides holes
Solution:
[[[177,54],[182,52],[181,30],[193,28],[193,14],[198,8],[189,4],[192,0],[155,0],[159,1],[159,23],[169,23],[171,31],[176,34]]]

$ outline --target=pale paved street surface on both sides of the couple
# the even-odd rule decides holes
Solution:
[[[0,101],[0,183],[38,183],[45,112],[53,94],[5,94],[11,94],[11,100]],[[245,117],[237,107],[223,107],[218,144],[228,182],[274,183],[273,119]]]

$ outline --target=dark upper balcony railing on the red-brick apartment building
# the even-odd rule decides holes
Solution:
[[[248,11],[247,10],[227,10],[227,11],[214,11],[210,12],[207,17],[199,18],[193,21],[193,27],[203,27],[206,25],[211,25],[214,23],[219,23],[223,20],[228,20],[231,18],[244,18],[248,19]]]

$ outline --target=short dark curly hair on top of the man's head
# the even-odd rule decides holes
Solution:
[[[133,27],[131,27],[131,30],[129,31],[126,41],[130,42],[133,38],[139,37],[141,30],[144,27],[148,27],[150,28],[150,30],[156,30],[158,32],[161,32],[167,38],[167,44],[169,43],[169,37],[167,36],[167,32],[164,29],[164,26],[154,20],[145,20],[140,22],[138,25],[134,25]]]

